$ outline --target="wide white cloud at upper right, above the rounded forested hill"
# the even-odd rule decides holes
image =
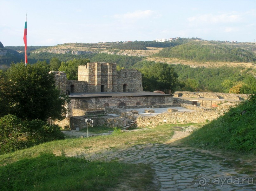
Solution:
[[[233,23],[241,21],[241,15],[238,14],[221,14],[221,15],[197,15],[187,18],[189,22],[200,22],[200,23]]]

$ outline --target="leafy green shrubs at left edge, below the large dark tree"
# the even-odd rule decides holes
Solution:
[[[57,125],[42,120],[22,121],[14,115],[0,118],[0,154],[60,139],[64,134]]]

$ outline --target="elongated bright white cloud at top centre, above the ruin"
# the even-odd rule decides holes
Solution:
[[[144,19],[152,15],[154,15],[154,11],[152,10],[145,10],[145,11],[138,10],[134,12],[128,12],[122,15],[114,15],[113,17],[117,19]]]

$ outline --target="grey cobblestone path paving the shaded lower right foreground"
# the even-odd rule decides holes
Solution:
[[[221,165],[223,158],[193,149],[164,144],[135,145],[112,153],[110,158],[118,158],[120,162],[150,164],[157,176],[155,183],[161,191],[256,190],[254,177]]]

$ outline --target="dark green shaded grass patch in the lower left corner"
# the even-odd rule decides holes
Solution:
[[[26,167],[24,169],[24,166]],[[137,178],[129,176],[141,173]],[[155,186],[145,164],[93,161],[43,153],[0,167],[0,190],[115,190],[123,180],[143,190]],[[143,177],[146,176],[146,177]],[[147,181],[145,181],[145,178]]]

